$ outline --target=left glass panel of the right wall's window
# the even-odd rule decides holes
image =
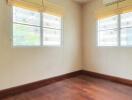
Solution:
[[[118,45],[118,16],[98,21],[98,46]]]

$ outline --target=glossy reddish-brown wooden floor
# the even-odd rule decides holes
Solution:
[[[3,100],[132,100],[132,87],[78,76]]]

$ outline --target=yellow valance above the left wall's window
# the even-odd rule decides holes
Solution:
[[[33,11],[63,16],[63,8],[47,0],[8,0],[8,4]]]

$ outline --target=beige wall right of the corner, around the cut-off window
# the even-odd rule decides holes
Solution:
[[[102,0],[93,0],[83,7],[84,69],[132,79],[132,48],[96,46],[95,12],[102,6]]]

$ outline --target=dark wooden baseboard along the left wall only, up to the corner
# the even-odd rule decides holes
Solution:
[[[61,80],[76,77],[76,76],[80,75],[81,73],[82,73],[82,71],[76,71],[76,72],[68,73],[65,75],[58,76],[58,77],[53,77],[53,78],[49,78],[46,80],[41,80],[41,81],[25,84],[22,86],[17,86],[17,87],[1,90],[0,91],[0,100],[5,97],[23,93],[25,91],[31,91],[31,90],[34,90],[37,88],[41,88],[43,86],[46,86],[46,85],[49,85],[49,84],[52,84],[52,83],[55,83],[55,82],[58,82]]]

